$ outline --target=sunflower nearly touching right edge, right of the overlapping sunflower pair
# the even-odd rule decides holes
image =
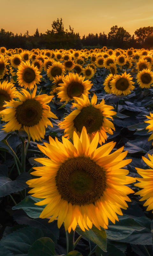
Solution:
[[[143,69],[138,72],[136,78],[141,88],[150,88],[150,84],[153,83],[153,71],[147,68]]]

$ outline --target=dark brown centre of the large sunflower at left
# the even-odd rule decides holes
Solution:
[[[16,117],[19,124],[33,126],[39,123],[43,113],[42,105],[39,101],[25,100],[16,110]]]

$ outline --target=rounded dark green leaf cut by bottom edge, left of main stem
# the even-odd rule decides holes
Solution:
[[[54,256],[55,244],[49,237],[41,237],[33,243],[28,256]]]

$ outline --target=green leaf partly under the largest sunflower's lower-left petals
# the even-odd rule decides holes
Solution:
[[[35,203],[42,201],[43,199],[36,198],[33,196],[27,196],[19,204],[12,207],[13,210],[23,209],[26,214],[31,218],[39,218],[41,212],[46,207],[46,205],[35,205]]]

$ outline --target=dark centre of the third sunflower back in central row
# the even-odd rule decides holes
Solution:
[[[77,82],[72,82],[67,87],[67,95],[70,99],[73,97],[80,97],[84,92],[84,86]]]

